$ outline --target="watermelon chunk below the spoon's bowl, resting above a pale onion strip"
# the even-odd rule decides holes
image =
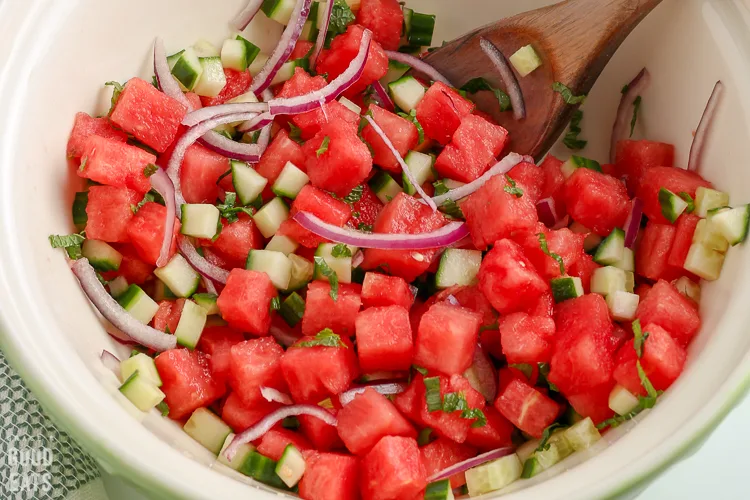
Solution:
[[[508,131],[481,116],[466,115],[435,161],[442,177],[471,182],[482,175],[508,142]]]

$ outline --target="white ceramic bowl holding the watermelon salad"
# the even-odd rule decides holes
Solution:
[[[108,80],[151,76],[151,44],[199,37],[218,42],[243,0],[4,0],[0,2],[0,314],[2,348],[49,413],[102,466],[159,498],[272,498],[213,460],[173,423],[121,402],[100,365],[108,338],[47,235],[71,229],[79,180],[65,160],[76,111],[106,110]],[[544,0],[410,0],[438,14],[436,41]],[[269,35],[265,19],[251,29]],[[644,65],[638,134],[677,145],[684,165],[691,132],[713,83],[727,92],[704,174],[750,201],[750,10],[741,0],[665,0],[625,42],[584,107],[587,156],[605,158],[620,88]],[[516,498],[630,495],[696,449],[745,393],[750,373],[750,265],[734,248],[706,285],[703,329],[685,373],[648,415],[607,434],[594,450],[510,488]],[[586,460],[589,455],[596,456]],[[217,466],[221,467],[221,466]],[[217,467],[213,467],[214,469]],[[224,469],[228,473],[228,469]],[[247,483],[247,484],[243,484]],[[520,490],[520,491],[517,491]]]

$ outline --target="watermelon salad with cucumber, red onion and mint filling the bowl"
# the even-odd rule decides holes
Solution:
[[[270,54],[256,15],[285,25]],[[683,370],[700,281],[750,218],[699,173],[721,83],[686,169],[631,138],[645,69],[608,163],[578,154],[576,109],[573,154],[537,165],[471,97],[524,119],[543,59],[482,40],[497,80],[450,82],[420,58],[434,26],[396,0],[253,0],[220,48],[157,39],[153,81],[75,117],[80,232],[50,242],[125,346],[101,356],[120,392],[218,468],[310,500],[476,496]]]

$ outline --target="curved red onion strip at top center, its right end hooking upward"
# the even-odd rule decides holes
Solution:
[[[372,41],[372,31],[365,30],[362,33],[362,40],[359,44],[357,56],[349,63],[346,71],[333,79],[328,85],[320,90],[310,92],[297,97],[286,97],[281,99],[272,99],[269,101],[271,115],[297,115],[306,113],[322,107],[334,99],[338,98],[342,92],[354,85],[362,76],[367,62],[367,56],[370,51],[370,42]]]

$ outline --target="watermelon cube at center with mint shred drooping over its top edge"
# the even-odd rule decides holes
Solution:
[[[315,336],[330,328],[339,335],[353,337],[354,323],[362,306],[361,293],[362,287],[356,283],[339,283],[338,298],[333,300],[327,281],[311,282],[302,316],[302,334]]]

